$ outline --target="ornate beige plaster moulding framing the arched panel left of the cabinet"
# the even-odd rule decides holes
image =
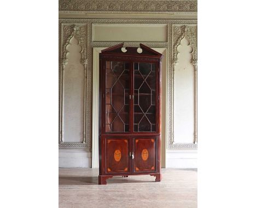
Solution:
[[[87,65],[88,65],[88,31],[87,31],[87,24],[60,24],[60,32],[61,32],[61,41],[60,41],[60,60],[61,63],[60,65],[62,66],[62,70],[65,70],[65,66],[67,65],[67,45],[69,44],[69,40],[74,36],[78,41],[79,45],[82,47],[82,58],[80,62],[84,65],[84,109],[83,109],[83,143],[66,143],[63,141],[63,129],[62,129],[62,118],[63,118],[63,72],[60,70],[60,144],[59,148],[71,148],[69,146],[74,146],[74,144],[78,144],[80,148],[90,148],[90,132],[89,136],[87,135],[87,125],[90,125],[86,120],[87,120],[87,114],[86,114],[86,109],[87,109]],[[90,90],[90,89],[89,89]],[[87,139],[88,138],[88,139]],[[83,145],[81,145],[83,144]]]

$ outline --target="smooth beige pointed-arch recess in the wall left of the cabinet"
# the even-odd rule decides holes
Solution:
[[[73,36],[67,45],[67,65],[63,70],[63,142],[83,141],[84,66],[78,44]]]

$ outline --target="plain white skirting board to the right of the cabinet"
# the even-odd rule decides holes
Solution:
[[[166,150],[166,168],[197,168],[197,150]]]

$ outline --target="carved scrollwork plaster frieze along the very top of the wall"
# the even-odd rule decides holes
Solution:
[[[59,0],[64,11],[197,11],[195,0]]]

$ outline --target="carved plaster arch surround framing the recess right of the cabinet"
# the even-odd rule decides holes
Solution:
[[[193,48],[191,64],[194,66],[194,143],[197,144],[197,27],[196,25],[173,26],[173,57],[172,57],[172,93],[174,92],[174,71],[178,63],[177,47],[181,40],[186,37],[189,45]],[[173,103],[172,103],[173,105]],[[173,118],[173,117],[172,117]],[[172,144],[174,144],[173,120],[172,120]]]

